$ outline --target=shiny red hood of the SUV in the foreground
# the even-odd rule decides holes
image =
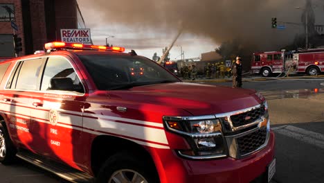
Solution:
[[[219,114],[242,110],[262,101],[251,89],[173,82],[109,91],[111,99],[150,103],[183,109],[192,115]]]

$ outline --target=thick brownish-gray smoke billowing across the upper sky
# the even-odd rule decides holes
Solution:
[[[278,49],[289,44],[302,26],[287,25],[285,30],[271,28],[271,17],[300,23],[306,0],[78,0],[94,9],[107,24],[122,24],[140,31],[176,31],[179,22],[185,33],[210,37],[216,44],[239,38],[260,49]],[[95,15],[93,15],[95,16]],[[102,22],[100,22],[102,24]],[[95,26],[96,22],[87,22]],[[171,36],[170,36],[171,37]]]

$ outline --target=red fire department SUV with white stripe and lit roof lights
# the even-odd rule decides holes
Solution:
[[[71,182],[273,176],[275,140],[260,94],[181,82],[120,47],[45,48],[0,63],[2,164],[19,157]]]

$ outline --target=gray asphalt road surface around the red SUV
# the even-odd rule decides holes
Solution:
[[[324,182],[324,80],[244,82],[267,98],[271,128],[276,133],[274,182]],[[230,82],[209,85],[228,85]],[[322,85],[321,85],[322,84]],[[3,183],[66,182],[19,161],[0,164]]]

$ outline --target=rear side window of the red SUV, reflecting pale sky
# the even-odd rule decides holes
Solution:
[[[44,59],[26,60],[17,64],[15,76],[8,82],[10,89],[39,90],[39,73],[41,73]],[[10,83],[11,82],[11,83]],[[38,86],[38,87],[37,87]]]

